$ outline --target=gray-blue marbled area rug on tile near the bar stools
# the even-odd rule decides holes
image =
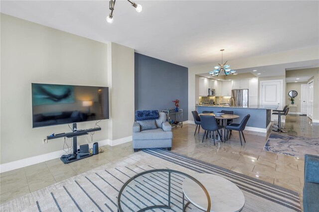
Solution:
[[[290,136],[272,132],[264,150],[300,158],[305,157],[305,154],[319,155],[319,138]]]

